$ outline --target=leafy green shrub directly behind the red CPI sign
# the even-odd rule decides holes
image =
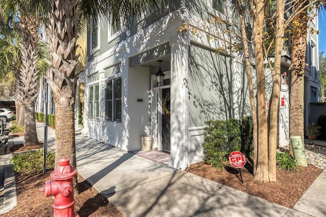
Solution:
[[[223,169],[232,151],[240,150],[240,124],[236,119],[208,120],[204,129],[204,160],[213,167]]]

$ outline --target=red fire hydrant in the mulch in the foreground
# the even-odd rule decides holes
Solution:
[[[79,216],[74,213],[73,198],[73,177],[77,175],[77,170],[69,163],[69,159],[59,160],[59,166],[50,174],[51,181],[46,181],[44,188],[40,189],[45,192],[45,196],[55,196],[55,203],[53,208],[55,210],[55,217],[59,216]]]

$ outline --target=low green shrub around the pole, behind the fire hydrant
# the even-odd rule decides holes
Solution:
[[[43,171],[43,149],[37,151],[28,150],[12,157],[13,169],[22,175],[33,174]],[[55,152],[46,154],[46,169],[55,167]]]

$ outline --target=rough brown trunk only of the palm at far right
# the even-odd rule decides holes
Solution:
[[[305,1],[306,5],[309,1]],[[300,10],[300,9],[297,9]],[[304,74],[308,16],[304,10],[292,22],[292,65],[290,78],[290,136],[304,139]]]

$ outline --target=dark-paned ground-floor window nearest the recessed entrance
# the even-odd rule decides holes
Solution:
[[[122,79],[109,80],[106,83],[105,119],[122,120]]]

